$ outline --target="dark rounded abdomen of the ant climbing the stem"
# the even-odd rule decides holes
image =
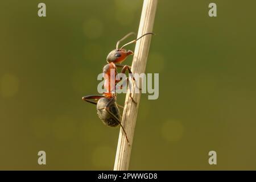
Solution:
[[[111,98],[100,98],[97,103],[97,113],[98,117],[103,123],[105,123],[105,125],[115,127],[119,125],[117,119],[120,120],[121,117],[119,114],[118,106],[115,102],[107,106],[110,100]],[[105,107],[107,108],[105,109]]]

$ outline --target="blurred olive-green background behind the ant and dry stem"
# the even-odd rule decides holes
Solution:
[[[119,128],[81,97],[97,94],[106,56],[137,32],[142,3],[0,2],[0,169],[113,169]],[[142,95],[130,169],[256,169],[255,5],[159,1],[146,69],[159,73],[159,99]]]

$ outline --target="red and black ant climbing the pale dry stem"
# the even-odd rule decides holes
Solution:
[[[108,64],[105,65],[103,68],[104,88],[106,89],[106,92],[104,92],[102,95],[90,95],[90,96],[82,97],[82,100],[89,102],[91,104],[97,105],[98,117],[106,125],[112,126],[112,127],[120,125],[123,130],[123,133],[125,133],[125,137],[128,143],[129,143],[129,140],[127,138],[126,131],[121,124],[121,115],[119,113],[118,104],[116,102],[117,96],[115,93],[115,86],[119,81],[121,81],[121,78],[118,77],[117,67],[122,68],[121,73],[125,73],[127,70],[130,73],[133,80],[135,80],[135,78],[132,75],[133,73],[131,72],[130,66],[119,64],[119,63],[122,63],[127,58],[127,56],[133,55],[133,51],[130,51],[130,50],[126,51],[126,49],[123,49],[123,47],[137,42],[137,40],[141,39],[145,35],[148,35],[148,34],[154,35],[154,33],[144,34],[138,39],[135,39],[129,43],[126,43],[121,48],[118,48],[119,43],[122,42],[122,40],[126,39],[131,34],[134,34],[134,32],[130,32],[129,34],[125,35],[122,39],[118,40],[116,49],[111,51],[107,56],[106,61],[108,62]],[[111,72],[112,70],[114,70],[114,76],[115,76],[113,83],[111,81],[113,80],[112,78],[113,76]],[[120,88],[122,88],[122,85],[120,86]],[[131,97],[131,93],[130,93],[130,97]],[[131,97],[131,99],[133,100],[133,97]],[[133,100],[133,102],[135,101]]]

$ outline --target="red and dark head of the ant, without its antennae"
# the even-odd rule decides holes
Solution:
[[[133,55],[133,51],[126,51],[125,49],[114,49],[107,56],[108,63],[122,63],[127,56]]]

